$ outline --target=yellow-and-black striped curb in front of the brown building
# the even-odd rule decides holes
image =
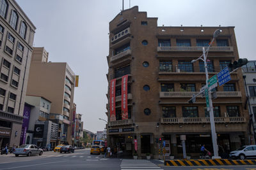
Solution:
[[[165,160],[164,166],[255,166],[256,160],[191,159]]]

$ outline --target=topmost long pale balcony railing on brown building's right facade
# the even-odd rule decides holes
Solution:
[[[157,52],[202,52],[202,46],[157,46]],[[211,46],[209,52],[233,52],[233,46]]]

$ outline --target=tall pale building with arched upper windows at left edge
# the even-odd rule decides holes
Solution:
[[[15,1],[0,9],[0,147],[17,146],[36,27]]]

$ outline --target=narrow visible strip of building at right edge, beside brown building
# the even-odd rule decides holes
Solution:
[[[252,129],[249,132],[254,134],[254,139],[251,139],[251,143],[256,141],[256,60],[250,60],[246,65],[242,67],[244,87],[246,92],[246,104],[248,105],[248,111],[250,114],[250,125]]]

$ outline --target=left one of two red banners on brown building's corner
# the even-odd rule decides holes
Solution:
[[[110,121],[116,120],[116,79],[110,81]]]

